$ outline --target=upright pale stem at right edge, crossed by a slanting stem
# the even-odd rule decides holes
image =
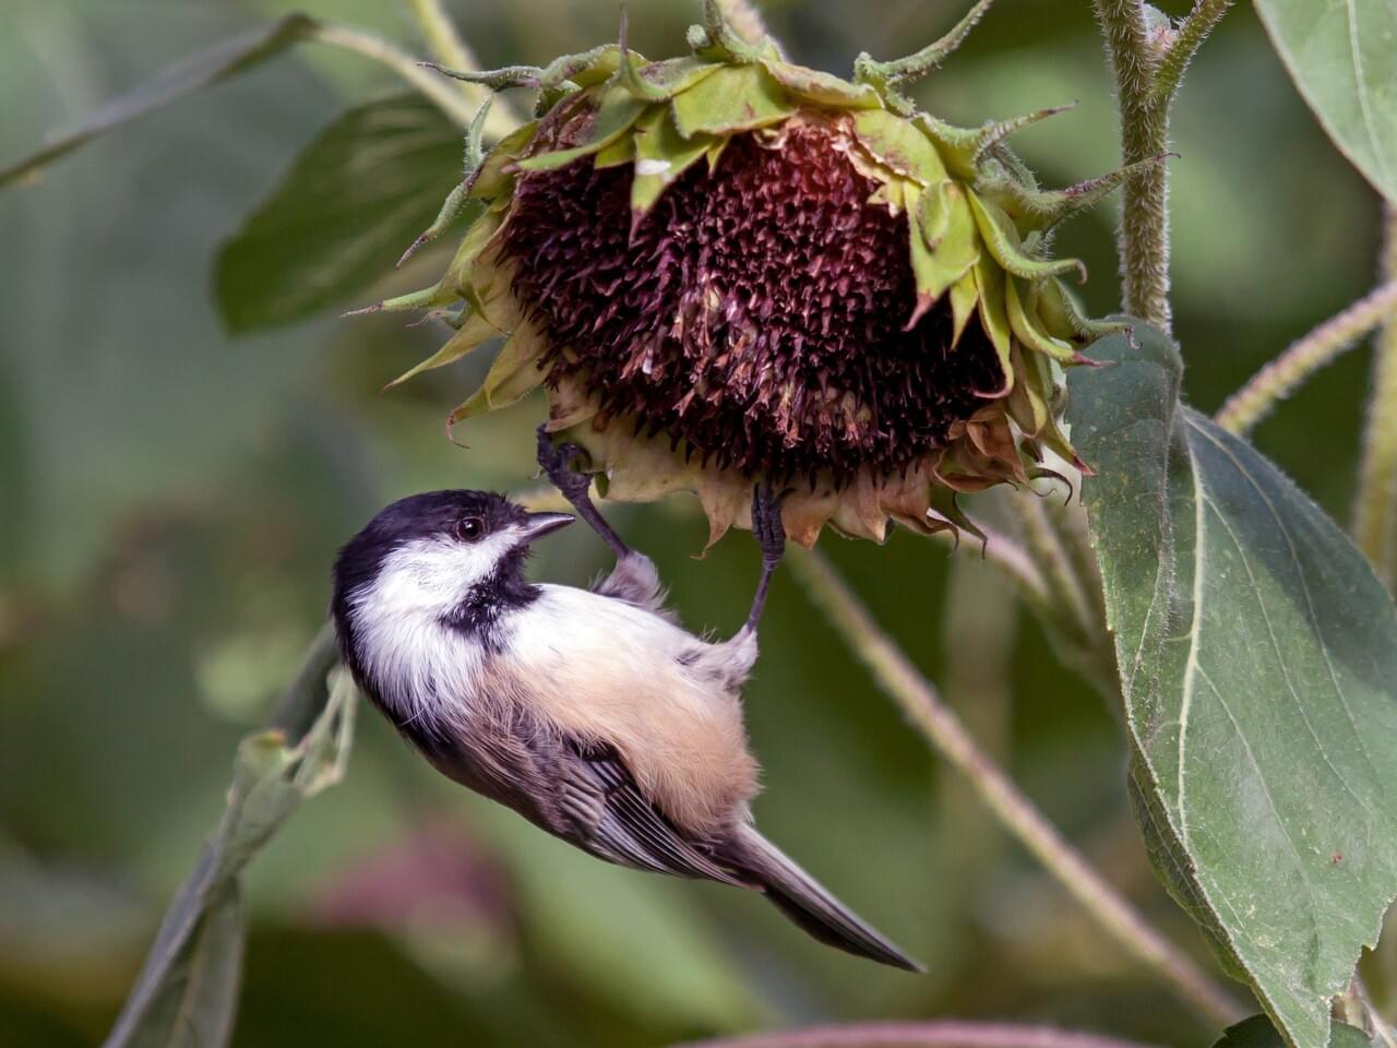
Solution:
[[[1387,243],[1382,275],[1397,284],[1397,205],[1387,205]],[[1368,401],[1363,458],[1358,470],[1354,503],[1354,538],[1368,555],[1377,577],[1397,583],[1397,312],[1389,310],[1377,331],[1373,358],[1373,393]]]

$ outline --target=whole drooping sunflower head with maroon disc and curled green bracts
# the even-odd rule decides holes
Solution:
[[[826,523],[968,527],[957,492],[1028,482],[1045,449],[1076,461],[1062,369],[1097,328],[1048,238],[1129,172],[1042,191],[1003,140],[1052,110],[974,130],[915,110],[898,82],[944,45],[844,81],[738,41],[715,4],[690,43],[467,74],[539,102],[451,201],[485,210],[441,281],[383,303],[451,310],[409,374],[506,337],[451,425],[542,386],[609,497],[692,490],[715,539],[754,482],[789,486],[806,545]]]

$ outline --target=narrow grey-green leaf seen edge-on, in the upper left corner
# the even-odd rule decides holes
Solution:
[[[36,176],[45,166],[80,145],[166,106],[219,80],[251,68],[305,39],[316,22],[291,14],[267,25],[242,32],[180,61],[140,87],[112,99],[73,130],[53,138],[36,152],[0,168],[0,187]]]

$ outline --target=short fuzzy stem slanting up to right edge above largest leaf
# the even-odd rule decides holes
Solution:
[[[1248,379],[1214,416],[1229,433],[1246,433],[1326,365],[1383,320],[1397,317],[1397,279],[1337,313]]]

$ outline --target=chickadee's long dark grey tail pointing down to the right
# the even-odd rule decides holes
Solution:
[[[865,924],[844,903],[750,826],[733,841],[736,865],[795,924],[828,946],[907,971],[925,971],[915,960]]]

